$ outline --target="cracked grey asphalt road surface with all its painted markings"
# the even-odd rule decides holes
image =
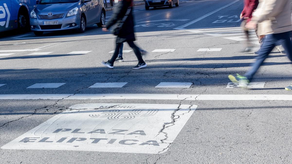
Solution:
[[[248,89],[241,0],[134,7],[135,42],[103,67],[115,36],[0,38],[0,163],[291,163],[291,63],[274,49]],[[109,19],[112,11],[107,12]],[[255,35],[253,33],[253,35]],[[126,51],[128,50],[128,51]],[[130,52],[129,52],[130,51]],[[228,84],[229,83],[229,84]]]

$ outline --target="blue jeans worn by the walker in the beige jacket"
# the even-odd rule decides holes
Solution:
[[[256,74],[256,71],[258,71],[264,60],[277,45],[281,44],[284,47],[288,58],[292,61],[292,42],[290,39],[290,34],[291,31],[279,34],[268,34],[265,36],[265,39],[263,39],[263,44],[260,47],[256,62],[252,64],[252,69],[244,75],[249,81],[251,81],[254,74]]]

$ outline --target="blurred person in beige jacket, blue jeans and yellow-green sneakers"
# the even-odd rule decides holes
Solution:
[[[263,5],[259,14],[253,16],[251,21],[246,24],[246,28],[249,29],[256,28],[258,25],[258,34],[265,35],[256,62],[252,64],[252,69],[244,76],[239,74],[237,74],[237,77],[228,76],[232,82],[239,83],[241,88],[248,86],[256,71],[278,44],[284,47],[288,58],[292,61],[292,42],[290,39],[292,31],[291,0],[262,0],[259,5]],[[288,86],[285,89],[292,90],[292,86]]]

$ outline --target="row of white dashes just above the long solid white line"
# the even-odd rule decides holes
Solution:
[[[127,85],[127,87],[132,87],[135,85],[133,82],[112,82],[112,83],[94,83],[93,85],[87,88],[123,88]],[[152,86],[154,88],[191,88],[193,85],[192,82],[160,82],[156,84],[156,86]],[[10,87],[9,83],[0,84],[0,89],[5,89]],[[35,83],[26,87],[27,89],[32,88],[59,88],[59,87],[70,87],[70,83]],[[248,88],[264,88],[265,82],[252,82],[248,86]],[[195,87],[195,86],[194,86]],[[199,87],[199,86],[198,86]],[[79,87],[84,88],[84,87]],[[86,87],[85,87],[86,88]],[[226,88],[238,88],[237,83],[228,83]]]

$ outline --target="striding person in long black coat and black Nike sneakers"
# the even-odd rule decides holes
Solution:
[[[102,28],[102,31],[108,31],[110,27],[113,27],[112,33],[117,35],[116,49],[112,58],[107,62],[102,61],[102,64],[109,68],[114,68],[114,62],[117,59],[122,43],[127,42],[133,49],[136,57],[138,58],[138,64],[133,69],[140,69],[147,66],[142,59],[143,55],[146,55],[146,51],[140,50],[135,44],[134,34],[134,20],[132,15],[133,0],[119,0],[115,5],[114,12]]]

